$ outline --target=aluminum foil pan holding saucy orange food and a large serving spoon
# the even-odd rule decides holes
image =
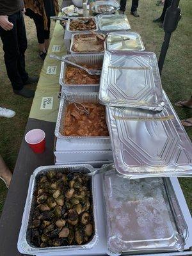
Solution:
[[[102,67],[102,61],[104,54],[76,54],[75,56],[70,54],[66,55],[65,59],[72,61],[77,64],[99,64]],[[61,72],[60,72],[60,84],[68,90],[74,89],[74,92],[99,92],[99,84],[66,84],[65,83],[65,70],[68,64],[64,61],[61,62]]]

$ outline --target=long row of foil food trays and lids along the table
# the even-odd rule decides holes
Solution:
[[[68,30],[76,28],[70,22]],[[169,176],[191,176],[191,141],[162,89],[156,54],[143,51],[140,35],[96,32],[72,35],[71,54],[63,56],[55,154],[65,151],[65,164],[31,175],[18,249],[42,256],[180,255],[191,246],[191,229]],[[90,41],[100,52],[84,52]],[[101,75],[65,60],[102,68]]]

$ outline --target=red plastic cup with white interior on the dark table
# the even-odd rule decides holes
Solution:
[[[45,151],[45,132],[41,129],[33,129],[29,131],[25,140],[33,152],[40,154]]]

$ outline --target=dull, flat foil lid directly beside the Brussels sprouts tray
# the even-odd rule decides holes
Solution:
[[[127,180],[113,171],[104,175],[109,252],[132,255],[184,250],[188,227],[179,205],[170,205],[176,198],[166,179],[166,183],[160,177]]]

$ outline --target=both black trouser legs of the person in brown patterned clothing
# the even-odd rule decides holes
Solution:
[[[41,15],[34,13],[33,20],[36,26],[36,35],[37,35],[38,43],[44,44],[45,39],[49,39],[49,36],[50,36],[51,20],[49,17],[47,17],[48,30],[44,29],[44,18]]]

